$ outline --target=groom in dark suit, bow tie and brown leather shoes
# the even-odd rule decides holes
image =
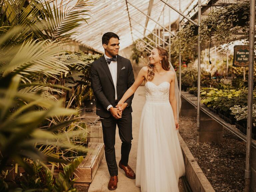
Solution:
[[[130,60],[118,55],[119,37],[112,32],[102,36],[105,54],[91,66],[91,86],[97,99],[96,114],[100,116],[105,144],[105,156],[110,174],[108,189],[117,188],[118,168],[115,155],[115,134],[118,126],[122,141],[119,167],[127,177],[135,179],[135,173],[128,165],[132,138],[132,98],[128,98],[119,111],[115,106],[123,94],[134,83]]]

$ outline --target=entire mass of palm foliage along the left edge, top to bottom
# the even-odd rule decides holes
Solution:
[[[23,157],[56,161],[46,158],[34,143],[48,139],[54,144],[59,136],[52,130],[75,121],[69,119],[47,130],[39,129],[47,118],[76,113],[63,108],[63,101],[56,102],[53,95],[62,94],[64,88],[49,83],[49,79],[58,81],[68,73],[70,64],[88,65],[62,46],[89,18],[87,0],[71,6],[69,3],[0,0],[0,171],[10,158],[28,172],[31,169]]]

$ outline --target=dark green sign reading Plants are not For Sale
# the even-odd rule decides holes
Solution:
[[[234,67],[248,67],[249,66],[249,46],[235,45],[234,46]]]

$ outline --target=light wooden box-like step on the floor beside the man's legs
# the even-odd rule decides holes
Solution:
[[[88,153],[75,171],[77,183],[91,183],[104,156],[104,143],[89,143]]]

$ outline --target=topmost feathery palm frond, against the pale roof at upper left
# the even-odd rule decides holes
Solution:
[[[60,39],[71,39],[71,36],[76,34],[74,31],[77,27],[87,23],[90,18],[87,10],[89,5],[88,0],[77,0],[74,5],[70,5],[69,1],[65,6],[57,5],[55,1],[51,3],[44,2],[41,17],[34,26],[34,32],[38,38],[50,39],[51,41]]]

